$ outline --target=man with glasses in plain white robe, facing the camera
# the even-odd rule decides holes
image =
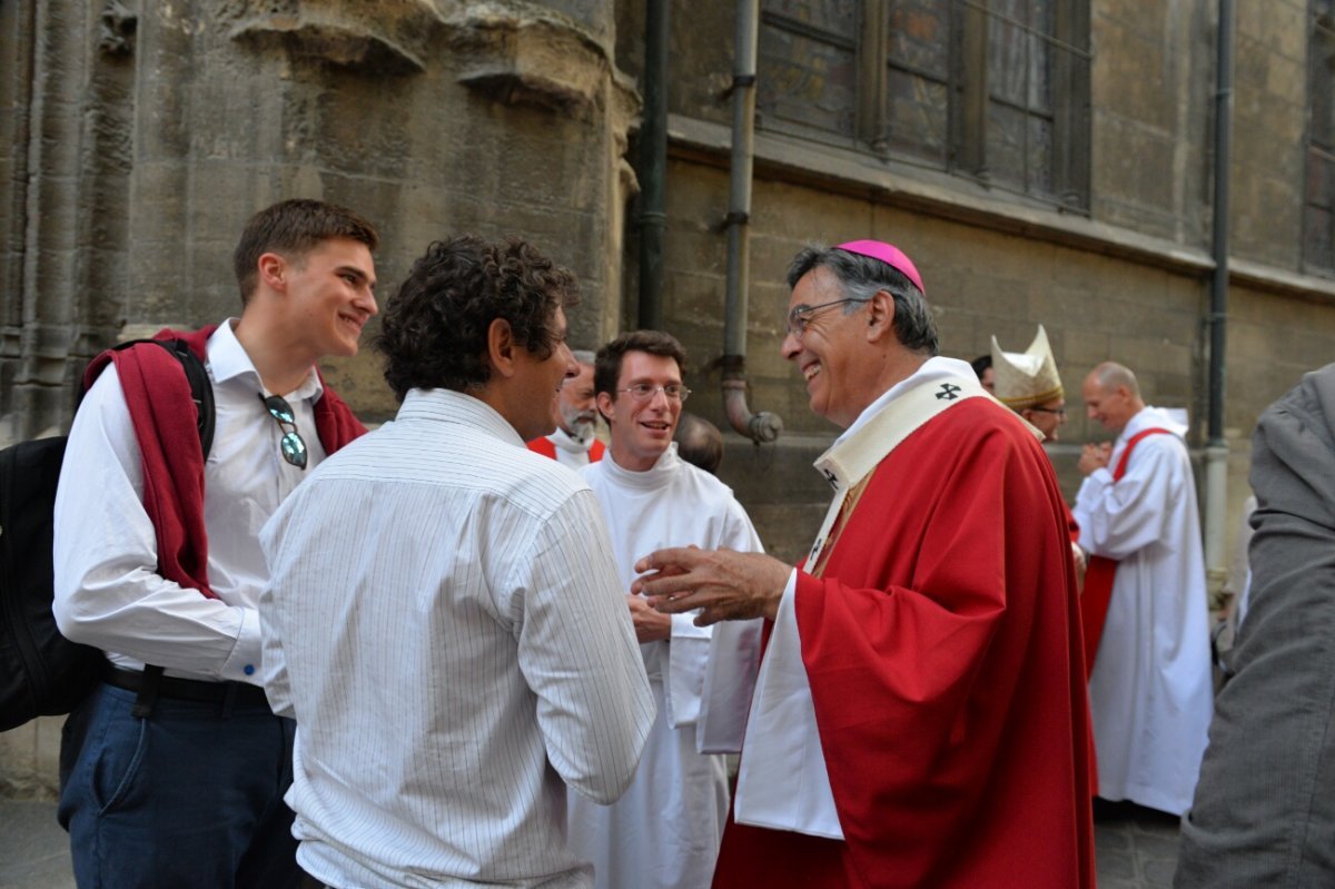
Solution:
[[[761,551],[733,493],[677,457],[673,432],[690,395],[682,383],[685,363],[676,338],[641,330],[603,346],[594,370],[611,444],[582,475],[611,530],[621,590],[658,702],[626,796],[611,806],[570,796],[570,846],[593,861],[599,889],[709,885],[728,817],[728,770],[720,756],[725,750],[706,748],[702,726],[710,699],[737,710],[736,702],[726,703],[729,693],[745,701],[750,689],[750,670],[736,667],[748,653],[754,655],[754,643],[712,658],[709,627],[696,626],[689,614],[659,614],[629,594],[635,561],[663,546]]]

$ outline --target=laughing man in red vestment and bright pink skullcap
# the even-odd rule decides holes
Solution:
[[[782,354],[844,428],[808,558],[668,549],[633,586],[770,622],[713,885],[1092,886],[1075,569],[1037,436],[937,356],[892,244],[810,247],[788,282]]]

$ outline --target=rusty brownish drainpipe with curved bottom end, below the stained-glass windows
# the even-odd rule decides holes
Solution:
[[[724,310],[724,410],[734,430],[757,444],[784,430],[776,414],[752,414],[746,406],[746,298],[750,263],[750,186],[756,136],[756,44],[760,0],[737,1],[737,49],[733,59],[733,151],[728,198],[728,290]]]

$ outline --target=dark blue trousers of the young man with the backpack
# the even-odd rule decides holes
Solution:
[[[291,719],[100,685],[71,715],[59,818],[81,889],[298,886]],[[81,737],[80,737],[81,735]]]

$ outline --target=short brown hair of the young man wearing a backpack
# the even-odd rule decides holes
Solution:
[[[242,291],[242,306],[250,302],[259,283],[259,258],[282,254],[300,260],[319,244],[334,238],[347,238],[366,244],[372,254],[380,244],[371,223],[347,207],[323,200],[292,198],[266,207],[246,223],[232,251],[232,270]]]

